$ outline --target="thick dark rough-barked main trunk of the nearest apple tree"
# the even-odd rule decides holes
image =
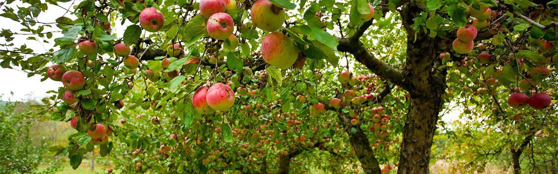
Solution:
[[[403,127],[403,142],[397,173],[428,173],[432,137],[436,130],[438,113],[445,91],[445,72],[436,71],[434,62],[440,53],[440,44],[447,41],[430,38],[424,32],[415,33],[413,18],[423,10],[415,3],[401,9],[403,28],[407,32],[407,58],[403,68],[403,81],[408,83],[410,106]]]

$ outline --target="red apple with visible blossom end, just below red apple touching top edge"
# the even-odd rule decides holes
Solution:
[[[223,1],[223,0],[216,0]],[[209,36],[218,40],[229,38],[234,31],[233,18],[227,13],[215,13],[208,19],[207,30]]]

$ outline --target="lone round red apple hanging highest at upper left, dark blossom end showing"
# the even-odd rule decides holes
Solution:
[[[163,13],[156,8],[147,7],[140,13],[140,25],[145,31],[158,32],[165,24]]]

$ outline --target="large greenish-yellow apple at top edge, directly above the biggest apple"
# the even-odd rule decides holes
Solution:
[[[285,22],[285,9],[268,0],[258,0],[252,5],[250,18],[254,26],[264,31],[274,32]]]

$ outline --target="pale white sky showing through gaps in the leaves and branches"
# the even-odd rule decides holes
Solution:
[[[66,12],[66,9],[72,9],[72,4],[74,1],[60,3],[58,6],[54,6],[52,4],[48,4],[48,9],[46,12],[41,12],[39,17],[37,17],[37,21],[49,23],[55,22],[55,19],[61,16],[65,16],[71,19],[75,19],[76,17],[71,14],[70,12]],[[22,6],[21,1],[14,1],[11,4],[4,4],[1,9],[5,9],[7,7],[16,8],[16,6]],[[0,23],[2,24],[1,29],[9,29],[11,31],[20,31],[23,26],[20,22],[12,21],[12,19],[0,17]],[[122,26],[120,22],[116,22],[116,26],[112,26],[112,32],[117,36],[121,37],[124,33],[126,27],[129,26],[131,23],[126,21]],[[52,25],[54,28],[45,28],[45,32],[47,31],[60,31],[54,24]],[[20,32],[20,33],[27,33],[27,32]],[[52,44],[44,43],[39,41],[32,41],[28,42],[27,37],[29,35],[14,35],[15,39],[13,39],[12,43],[15,44],[16,47],[19,47],[23,44],[27,44],[27,47],[33,48],[36,53],[44,53],[48,49],[52,48]],[[54,38],[61,37],[62,34],[60,32],[53,33],[52,39],[47,39],[47,41],[53,41]],[[39,38],[39,37],[37,37]],[[44,38],[46,39],[46,38]],[[4,38],[0,37],[0,42],[6,42]],[[54,43],[54,42],[51,42]],[[1,47],[0,49],[8,49],[5,47]],[[60,49],[58,47],[54,48],[55,50]],[[17,67],[14,67],[17,68]],[[17,101],[17,100],[30,100],[35,99],[39,100],[40,98],[50,96],[52,94],[47,94],[47,91],[57,91],[59,87],[62,86],[61,82],[52,81],[51,79],[46,79],[45,81],[41,82],[42,76],[35,75],[33,77],[27,77],[27,73],[18,71],[16,69],[7,69],[7,68],[0,68],[0,100],[7,101]],[[13,95],[11,93],[13,92]],[[454,110],[447,113],[445,116],[442,117],[442,120],[446,122],[459,120],[459,114],[461,113],[460,108],[454,108]]]

